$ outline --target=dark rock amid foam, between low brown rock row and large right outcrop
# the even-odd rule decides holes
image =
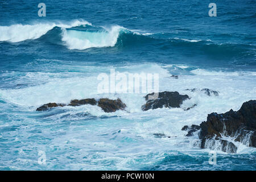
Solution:
[[[155,93],[150,93],[145,96],[147,101],[141,108],[146,111],[148,109],[157,109],[163,107],[180,107],[184,100],[187,100],[188,95],[181,95],[179,92],[159,92],[158,98],[155,100],[149,100],[149,96],[153,96]]]

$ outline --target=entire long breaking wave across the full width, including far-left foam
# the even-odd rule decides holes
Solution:
[[[254,44],[220,43],[212,40],[175,38],[169,34],[141,34],[125,27],[96,27],[84,20],[72,23],[39,23],[33,25],[13,24],[0,26],[0,42],[23,42],[24,40],[47,42],[65,46],[68,49],[88,48],[143,48],[152,46],[166,54],[166,50],[185,56],[203,55],[214,60],[232,59],[235,64],[255,65]],[[223,35],[216,35],[223,36]],[[225,35],[232,36],[234,35]],[[236,35],[238,36],[238,35]],[[249,42],[253,42],[250,40]],[[172,54],[172,52],[170,52]]]

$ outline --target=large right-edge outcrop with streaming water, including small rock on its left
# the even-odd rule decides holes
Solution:
[[[236,153],[233,142],[241,142],[249,147],[256,147],[256,100],[243,103],[240,110],[232,109],[224,114],[208,114],[207,121],[200,124],[199,139],[201,148],[217,148],[224,152]],[[197,130],[184,126],[187,136]],[[232,137],[232,141],[222,139]]]

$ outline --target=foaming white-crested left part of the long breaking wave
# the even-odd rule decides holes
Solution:
[[[95,27],[83,21],[71,24],[13,24],[0,26],[0,32],[0,42],[17,43],[37,39],[80,50],[93,47],[114,47],[115,45],[123,47],[135,43],[146,43],[150,40],[147,36],[135,34],[121,26]]]

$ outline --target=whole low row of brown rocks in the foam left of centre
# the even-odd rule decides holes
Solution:
[[[85,104],[98,105],[106,113],[112,113],[117,110],[124,110],[126,107],[126,105],[119,98],[117,100],[101,98],[98,101],[96,101],[94,98],[86,98],[86,99],[82,99],[82,100],[72,100],[68,104],[68,106],[80,106],[80,105],[85,105]],[[67,106],[67,105],[56,104],[53,102],[53,103],[44,104],[44,105],[38,107],[38,109],[36,109],[36,111],[45,111],[51,107],[58,107],[58,106],[63,107],[63,106]]]

